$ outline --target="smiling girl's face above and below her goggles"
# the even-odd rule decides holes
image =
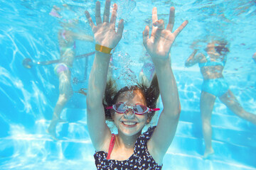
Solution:
[[[117,103],[120,102],[126,103],[128,106],[133,106],[138,103],[146,106],[145,98],[139,90],[125,91],[120,94],[117,98]],[[148,113],[144,113],[144,115],[136,115],[132,112],[132,109],[129,108],[125,113],[114,112],[112,114],[112,119],[117,126],[118,132],[122,132],[127,136],[132,136],[142,132],[142,128],[144,128],[147,123],[147,114]]]

